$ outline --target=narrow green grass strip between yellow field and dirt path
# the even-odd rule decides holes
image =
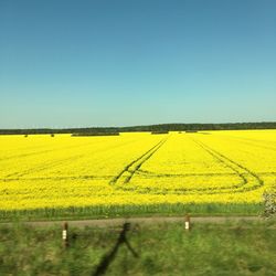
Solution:
[[[0,221],[82,220],[126,216],[258,215],[263,204],[151,204],[0,211]]]

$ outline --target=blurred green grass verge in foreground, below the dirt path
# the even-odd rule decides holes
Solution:
[[[131,225],[126,243],[110,252],[119,229],[71,229],[64,248],[61,229],[0,226],[0,275],[275,275],[276,223]]]

